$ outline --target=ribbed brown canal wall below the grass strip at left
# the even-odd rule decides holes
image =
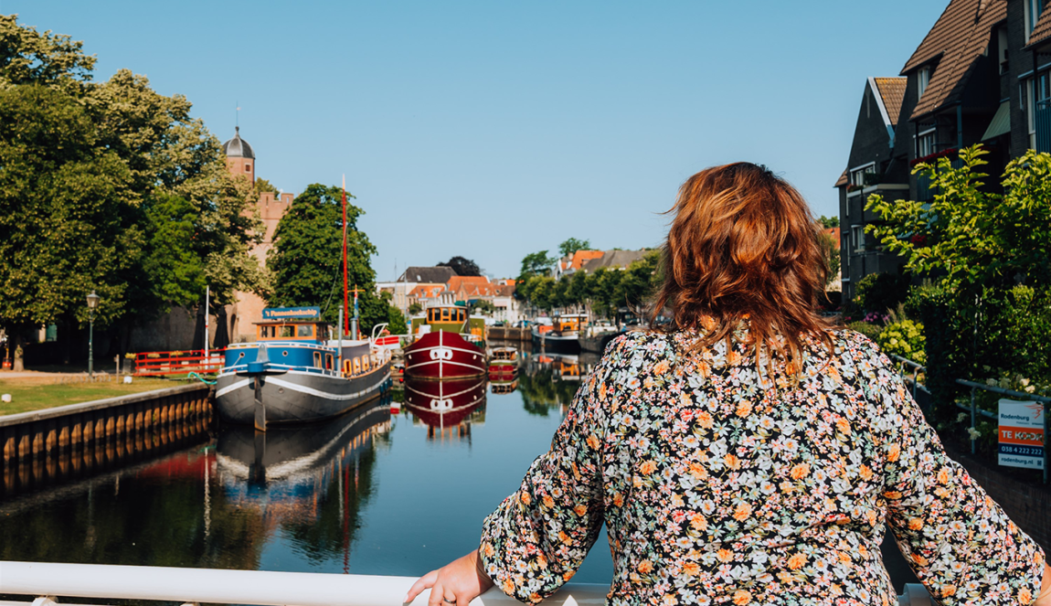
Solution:
[[[197,383],[5,415],[0,417],[4,473],[19,463],[100,441],[124,440],[191,420],[207,425],[212,414],[211,388]]]

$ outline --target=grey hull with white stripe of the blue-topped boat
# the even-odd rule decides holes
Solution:
[[[261,377],[267,423],[309,423],[335,417],[379,397],[390,385],[390,363],[364,375],[289,371]],[[219,376],[215,412],[228,423],[252,424],[255,419],[254,379],[235,373]]]

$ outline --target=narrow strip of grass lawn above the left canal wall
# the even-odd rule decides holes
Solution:
[[[13,415],[138,394],[185,384],[185,381],[139,378],[130,383],[56,383],[53,377],[0,379],[0,394],[11,394],[9,402],[0,401],[0,415]]]

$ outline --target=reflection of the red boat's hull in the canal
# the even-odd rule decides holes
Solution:
[[[427,425],[428,439],[471,437],[486,422],[486,378],[405,381],[405,408]]]

